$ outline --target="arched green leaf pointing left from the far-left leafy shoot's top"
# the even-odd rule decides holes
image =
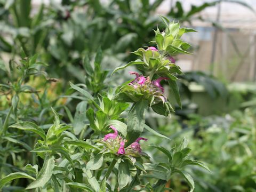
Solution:
[[[20,129],[20,130],[26,130],[26,131],[32,131],[38,135],[40,135],[44,140],[46,140],[46,135],[44,133],[44,130],[40,127],[38,127],[35,123],[32,122],[19,122],[11,125],[10,127]]]

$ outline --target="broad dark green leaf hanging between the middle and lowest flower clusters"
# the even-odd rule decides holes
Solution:
[[[148,102],[145,100],[133,104],[127,119],[126,146],[140,137],[145,126],[145,111],[148,108]]]

